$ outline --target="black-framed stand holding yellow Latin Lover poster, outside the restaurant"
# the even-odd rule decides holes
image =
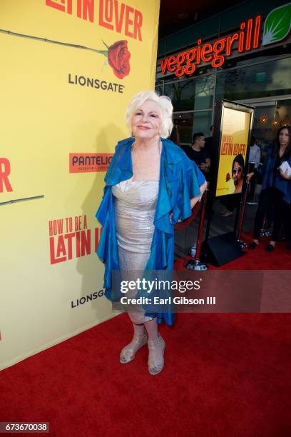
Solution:
[[[237,104],[226,99],[216,103],[215,131],[211,153],[212,178],[207,206],[208,222],[205,241],[203,242],[203,261],[213,263],[215,266],[222,266],[235,258],[245,255],[238,241],[242,231],[245,202],[242,202],[242,208],[238,211],[233,232],[224,233],[214,238],[209,238],[209,233],[215,199],[221,199],[223,196],[228,195],[228,199],[233,200],[243,193],[245,194],[244,201],[246,201],[247,191],[243,171],[248,161],[254,111],[255,109],[252,106]],[[235,159],[243,162],[244,165],[235,164]],[[231,167],[230,164],[232,164]],[[238,176],[236,178],[233,176],[233,174],[238,175],[239,172],[240,191],[238,191]],[[233,193],[230,193],[230,181],[233,181],[234,184]]]

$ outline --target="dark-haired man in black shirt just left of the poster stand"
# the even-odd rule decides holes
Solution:
[[[192,144],[183,147],[185,154],[194,161],[203,172],[206,181],[210,180],[210,155],[205,151],[205,136],[202,132],[193,134]]]

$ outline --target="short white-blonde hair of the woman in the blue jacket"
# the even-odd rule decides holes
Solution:
[[[158,106],[160,106],[160,114],[162,117],[160,136],[163,136],[163,138],[168,138],[173,129],[173,105],[169,97],[158,96],[155,91],[141,91],[133,97],[126,108],[126,124],[128,125],[128,128],[131,129],[131,118],[133,114],[147,100],[154,101],[156,104],[158,104]]]

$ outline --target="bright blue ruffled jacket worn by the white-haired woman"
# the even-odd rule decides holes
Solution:
[[[119,141],[105,176],[106,186],[96,218],[103,226],[97,255],[105,263],[105,295],[111,301],[116,299],[112,290],[112,271],[119,271],[118,244],[114,216],[112,186],[133,176],[131,146],[133,138]],[[174,226],[175,223],[190,217],[190,199],[200,194],[200,186],[205,182],[195,162],[179,146],[167,139],[163,143],[160,157],[160,184],[155,209],[153,241],[145,270],[173,270],[174,263]],[[173,213],[170,222],[169,214]],[[153,314],[149,314],[153,316]],[[173,313],[158,313],[158,322],[165,319],[173,323]]]

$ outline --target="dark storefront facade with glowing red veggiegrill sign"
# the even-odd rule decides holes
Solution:
[[[245,1],[160,39],[156,90],[169,96],[180,144],[210,136],[215,104],[255,107],[262,151],[291,124],[291,3]]]

